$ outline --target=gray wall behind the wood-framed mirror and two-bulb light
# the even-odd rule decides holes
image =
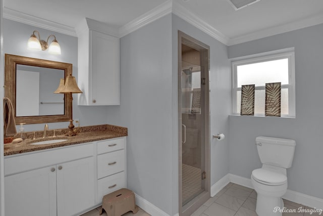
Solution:
[[[52,55],[48,51],[27,50],[27,41],[34,30],[39,31],[40,38],[43,40],[46,40],[50,34],[55,34],[61,46],[62,55]],[[50,39],[52,40],[52,37]],[[77,37],[4,19],[4,53],[71,63],[73,64],[73,75],[77,78]],[[73,98],[73,118],[80,119],[81,126],[106,123],[107,108],[105,106],[78,106],[77,95],[74,94]],[[69,122],[50,123],[49,129],[65,128],[68,125]],[[26,131],[41,129],[43,129],[43,124],[29,124],[25,126]]]

